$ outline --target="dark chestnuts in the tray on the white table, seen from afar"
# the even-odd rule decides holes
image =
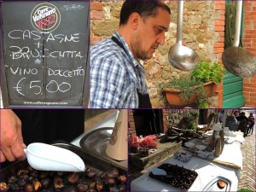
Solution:
[[[170,184],[177,189],[187,190],[194,183],[195,178],[198,176],[197,172],[183,168],[183,166],[177,166],[172,164],[162,164],[158,168],[166,171],[166,176],[154,175],[152,172],[149,173],[150,177]]]

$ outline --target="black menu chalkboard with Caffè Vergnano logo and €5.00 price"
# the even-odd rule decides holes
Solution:
[[[89,3],[1,4],[1,89],[6,93],[3,100],[8,101],[4,107],[79,108],[88,104]]]

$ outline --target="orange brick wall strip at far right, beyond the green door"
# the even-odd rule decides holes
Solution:
[[[256,2],[244,1],[243,47],[256,56]],[[243,94],[247,107],[256,107],[256,75],[243,80]]]

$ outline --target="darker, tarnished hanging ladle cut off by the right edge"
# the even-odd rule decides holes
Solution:
[[[250,51],[238,47],[241,30],[242,1],[236,1],[236,31],[233,47],[224,50],[224,67],[236,76],[249,78],[256,74],[256,58]]]

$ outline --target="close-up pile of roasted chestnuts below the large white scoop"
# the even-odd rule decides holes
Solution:
[[[44,172],[27,166],[0,183],[0,191],[126,191],[127,176],[117,168],[96,172]]]

